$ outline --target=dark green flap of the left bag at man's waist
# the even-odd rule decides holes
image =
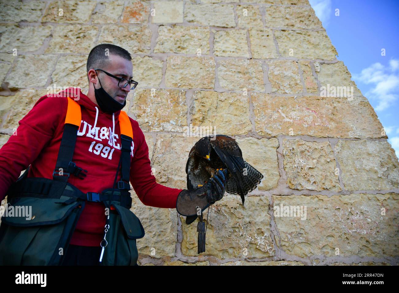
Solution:
[[[79,205],[73,202],[68,205],[56,202],[67,201],[69,197],[61,196],[59,199],[19,197],[6,205],[6,211],[1,220],[12,226],[51,225],[62,222],[70,212]]]

